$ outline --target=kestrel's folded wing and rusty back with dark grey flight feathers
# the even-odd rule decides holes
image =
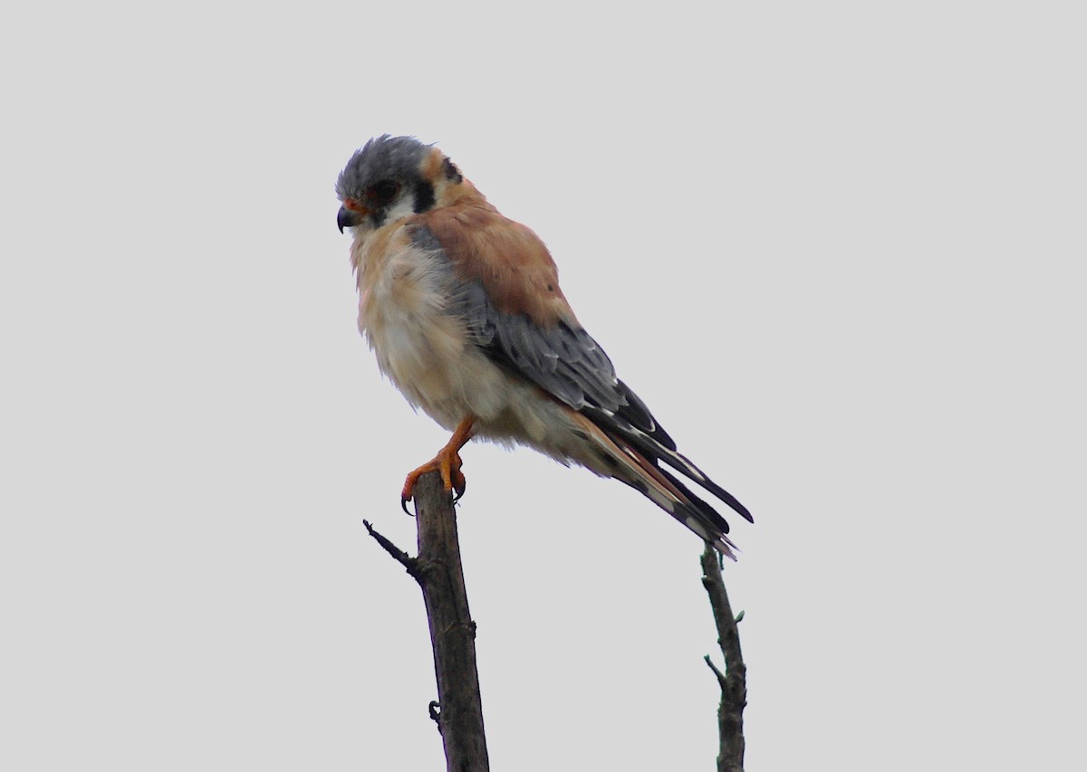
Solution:
[[[611,359],[566,303],[554,263],[532,230],[489,204],[445,207],[416,220],[415,243],[449,260],[460,279],[450,311],[488,356],[637,451],[721,534],[728,523],[661,463],[751,520],[735,496],[676,451],[646,404],[619,380]]]

